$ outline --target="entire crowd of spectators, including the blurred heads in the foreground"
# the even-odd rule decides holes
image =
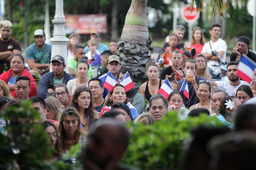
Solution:
[[[195,130],[183,166],[185,169],[207,169],[210,156],[206,153],[206,145],[213,136],[225,135],[229,128],[235,131],[255,130],[256,114],[252,103],[256,95],[256,71],[249,84],[237,76],[237,68],[242,54],[254,61],[256,55],[249,51],[249,38],[240,36],[227,64],[228,80],[212,81],[210,73],[221,72],[219,68],[212,67],[213,64],[220,65],[220,59],[211,53],[212,50],[218,51],[224,61],[227,53],[226,42],[220,39],[219,24],[214,23],[210,27],[209,42],[204,41],[200,27],[193,29],[190,50],[196,49],[195,59],[184,54],[184,49],[190,44],[182,42],[184,26],[176,26],[164,44],[165,52],[160,55],[160,58],[164,58],[164,64],[159,65],[155,61],[147,63],[148,82],[143,83],[139,91],[135,88],[126,91],[125,86],[120,84],[126,72],[132,79],[132,71],[122,67],[116,41],[110,41],[109,47],[100,42],[99,30],[93,31],[86,47],[79,45],[78,34],[71,34],[68,60],[65,61],[60,55],[55,55],[51,60],[51,45],[44,43],[45,33],[41,29],[34,32],[35,43],[26,49],[24,59],[20,43],[11,38],[12,23],[5,20],[0,26],[0,111],[4,111],[8,104],[20,106],[20,100],[32,101],[31,107],[40,113],[39,122],[51,137],[49,143],[56,149],[56,154],[48,159],[61,158],[71,146],[79,143],[81,148],[86,146],[82,158],[89,169],[97,166],[102,169],[112,166],[115,169],[129,144],[130,134],[124,126],[125,122],[143,123],[146,126],[161,121],[168,111],[175,112],[180,121],[205,113],[216,117],[226,129]],[[65,63],[68,63],[68,73],[64,71]],[[50,67],[52,72],[49,72]],[[112,91],[103,87],[110,72],[117,81]],[[38,88],[35,76],[40,78]],[[173,88],[167,99],[158,93],[166,78]],[[189,98],[180,91],[185,80]],[[145,99],[148,106],[144,110]],[[30,122],[37,121],[30,118]],[[202,133],[209,132],[208,138],[202,136],[200,130]],[[6,136],[12,133],[7,130],[3,132]],[[243,137],[250,140],[247,134]],[[228,138],[225,140],[216,139],[217,142],[212,144],[212,150],[223,154],[223,158],[238,152],[225,150]],[[233,144],[236,145],[235,142]],[[197,156],[206,157],[201,165],[189,160],[191,154],[196,154],[191,148],[197,145],[202,150],[202,155]],[[228,162],[215,161],[215,166],[228,165]]]

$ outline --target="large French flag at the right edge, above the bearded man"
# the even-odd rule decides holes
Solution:
[[[249,84],[252,82],[254,75],[254,69],[256,68],[256,63],[252,61],[245,54],[241,56],[241,60],[237,68],[237,76],[242,80],[247,81]]]

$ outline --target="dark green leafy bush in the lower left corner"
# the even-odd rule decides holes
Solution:
[[[72,169],[71,166],[65,165],[62,161],[54,162],[53,164],[44,161],[45,158],[53,155],[54,148],[49,145],[50,137],[45,133],[44,127],[29,122],[28,118],[41,119],[40,114],[30,108],[31,104],[31,101],[22,101],[20,108],[7,108],[4,113],[1,113],[1,117],[11,121],[12,127],[10,128],[8,125],[5,131],[0,134],[0,169],[13,167],[13,159],[16,160],[20,169]],[[25,122],[21,124],[17,120],[23,120]],[[6,137],[7,132],[12,137]],[[16,151],[20,150],[19,153],[12,153],[12,150],[15,148]]]

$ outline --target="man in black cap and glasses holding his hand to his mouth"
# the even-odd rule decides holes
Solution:
[[[250,49],[250,39],[246,36],[240,36],[237,40],[236,47],[233,48],[233,52],[230,54],[230,61],[239,62],[241,55],[245,54],[256,62],[256,55],[249,51]]]

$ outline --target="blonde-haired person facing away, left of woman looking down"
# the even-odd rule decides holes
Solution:
[[[59,100],[53,96],[49,96],[44,101],[47,110],[46,119],[60,122],[60,116],[63,110]]]

